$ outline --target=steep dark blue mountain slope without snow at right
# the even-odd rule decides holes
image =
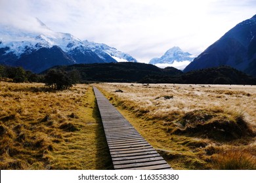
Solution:
[[[230,29],[195,58],[184,72],[220,65],[256,76],[256,15]]]

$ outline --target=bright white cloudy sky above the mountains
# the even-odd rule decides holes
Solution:
[[[0,0],[0,23],[102,42],[148,63],[173,46],[198,55],[256,14],[256,0]]]

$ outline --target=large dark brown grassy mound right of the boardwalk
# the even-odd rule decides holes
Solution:
[[[176,134],[198,135],[217,141],[230,141],[253,136],[253,131],[242,114],[224,114],[223,110],[194,110],[181,119],[183,127],[173,131]]]

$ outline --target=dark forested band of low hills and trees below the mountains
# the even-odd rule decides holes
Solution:
[[[146,63],[93,63],[56,66],[37,75],[22,67],[0,65],[0,77],[13,82],[46,82],[47,73],[58,73],[69,84],[89,82],[139,82],[176,84],[256,84],[256,78],[228,66],[201,69],[182,73],[174,67],[160,69]],[[51,71],[51,72],[50,72]],[[56,75],[57,76],[57,75]],[[60,78],[58,79],[60,80]],[[51,84],[49,84],[51,85]]]

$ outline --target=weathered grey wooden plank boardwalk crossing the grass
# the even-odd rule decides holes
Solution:
[[[106,141],[114,169],[158,170],[171,169],[170,165],[116,110],[116,108],[93,87]]]

